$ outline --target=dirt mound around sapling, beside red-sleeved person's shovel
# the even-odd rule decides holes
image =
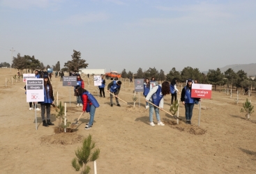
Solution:
[[[59,131],[59,127],[54,127],[54,132],[57,132],[57,129]],[[73,131],[70,131],[70,128],[68,129],[69,132],[58,132],[57,134],[53,134],[50,136],[42,136],[40,138],[41,144],[43,145],[70,145],[70,144],[76,144],[81,143],[84,136],[76,134]]]

